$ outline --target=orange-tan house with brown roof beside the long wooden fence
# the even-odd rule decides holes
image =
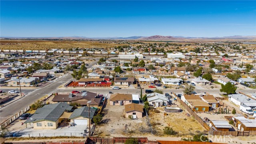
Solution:
[[[210,109],[210,105],[204,102],[199,94],[184,94],[180,99],[194,112],[208,112]]]

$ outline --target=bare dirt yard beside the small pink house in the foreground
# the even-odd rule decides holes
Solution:
[[[142,134],[138,131],[138,127],[147,128],[145,117],[138,120],[124,118],[124,106],[110,106],[109,100],[102,113],[104,113],[102,119],[104,124],[96,126],[95,136],[138,136]]]

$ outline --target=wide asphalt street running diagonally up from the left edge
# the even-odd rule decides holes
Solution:
[[[94,64],[96,64],[98,60],[92,62],[87,68],[91,68]],[[9,104],[7,106],[4,106],[0,109],[0,122],[6,120],[10,116],[13,116],[20,110],[26,108],[28,105],[34,103],[36,100],[40,99],[41,97],[45,96],[46,94],[50,94],[56,89],[58,89],[59,86],[65,84],[69,80],[71,80],[72,76],[71,74],[68,74],[64,76],[63,78],[60,78],[59,80],[39,89],[35,89],[32,92],[28,93],[25,97],[13,102],[12,104]],[[31,89],[27,89],[28,92]],[[25,89],[24,89],[25,92]],[[23,91],[22,91],[23,93]]]

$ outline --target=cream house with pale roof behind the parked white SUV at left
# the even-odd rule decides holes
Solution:
[[[28,77],[28,78],[13,78],[8,80],[9,86],[33,86],[37,83],[38,78]]]

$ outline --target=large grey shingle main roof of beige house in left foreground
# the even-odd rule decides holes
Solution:
[[[24,123],[40,122],[43,120],[56,122],[65,110],[70,110],[72,107],[64,102],[44,105],[42,108],[38,108],[35,114]]]

